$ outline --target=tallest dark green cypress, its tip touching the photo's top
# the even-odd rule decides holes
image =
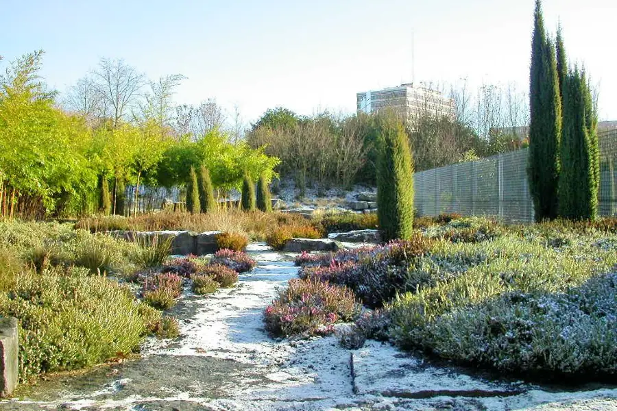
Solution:
[[[535,23],[531,43],[529,81],[529,190],[535,219],[557,216],[559,181],[559,140],[561,138],[561,98],[555,47],[546,37],[542,2],[535,2]]]

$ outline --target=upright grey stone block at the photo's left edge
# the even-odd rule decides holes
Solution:
[[[19,375],[19,333],[17,319],[0,319],[0,397],[8,397],[17,386]]]

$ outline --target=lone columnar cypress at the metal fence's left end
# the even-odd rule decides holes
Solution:
[[[377,216],[383,240],[413,236],[413,158],[402,123],[394,115],[378,120]]]

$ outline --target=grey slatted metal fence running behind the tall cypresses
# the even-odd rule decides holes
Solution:
[[[599,213],[617,215],[617,130],[598,136]],[[482,160],[420,171],[413,175],[415,208],[422,216],[444,212],[533,221],[527,183],[527,153],[521,149]]]

